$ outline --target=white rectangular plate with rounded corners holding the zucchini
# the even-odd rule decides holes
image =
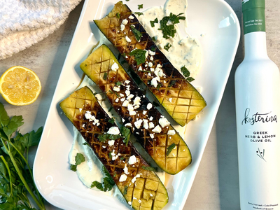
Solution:
[[[80,63],[99,40],[92,20],[103,18],[113,8],[113,0],[86,0],[76,27],[34,162],[34,179],[45,200],[62,209],[127,209],[116,197],[86,188],[76,173],[69,169],[69,151],[73,125],[59,108],[80,83],[83,72]],[[139,0],[125,1],[132,11],[138,11]],[[141,0],[144,8],[160,6],[162,0]],[[192,164],[169,179],[169,203],[165,209],[183,209],[195,179],[197,168],[207,144],[218,106],[230,74],[239,43],[240,28],[235,12],[222,0],[188,0],[188,33],[202,45],[202,69],[193,82],[203,88],[207,107],[199,120],[188,124],[186,143],[193,155]],[[204,36],[200,36],[204,34]]]

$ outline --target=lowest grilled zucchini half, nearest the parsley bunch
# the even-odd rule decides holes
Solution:
[[[109,116],[88,87],[73,92],[60,103],[60,107],[90,144],[133,209],[159,210],[165,207],[168,202],[165,186],[155,172],[147,170],[150,169],[148,163],[130,141],[126,146],[123,137],[108,134],[110,130],[116,132],[118,127],[109,122]],[[110,137],[104,140],[106,135]]]

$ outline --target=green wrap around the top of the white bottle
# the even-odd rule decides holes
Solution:
[[[242,3],[244,34],[265,31],[265,1],[247,0]]]

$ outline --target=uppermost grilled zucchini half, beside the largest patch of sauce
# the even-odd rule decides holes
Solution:
[[[207,104],[200,92],[174,68],[122,1],[94,22],[179,125],[204,109]]]

